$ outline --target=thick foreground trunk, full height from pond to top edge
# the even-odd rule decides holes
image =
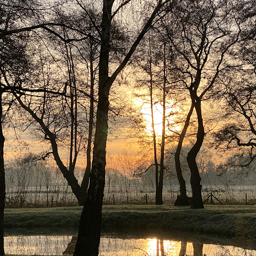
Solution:
[[[105,187],[106,143],[108,134],[108,97],[110,89],[108,61],[112,5],[113,1],[103,1],[101,50],[99,60],[99,100],[92,170],[90,174],[90,185],[79,222],[78,239],[74,256],[98,256],[99,254],[101,211]]]

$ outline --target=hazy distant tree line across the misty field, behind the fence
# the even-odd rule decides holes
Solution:
[[[188,149],[187,149],[188,150]],[[183,155],[186,155],[185,152]],[[255,172],[229,168],[223,172],[215,168],[212,154],[206,149],[197,157],[197,165],[202,179],[203,200],[213,193],[221,203],[256,203]],[[150,158],[141,158],[123,151],[119,155],[109,155],[106,166],[106,185],[103,204],[153,204],[155,203],[155,168],[145,170]],[[186,159],[181,159],[183,178],[189,182],[189,167]],[[251,165],[254,168],[253,164]],[[174,156],[165,159],[163,177],[163,203],[175,202],[179,193],[179,182],[175,173]],[[76,167],[78,183],[82,183],[84,168]],[[5,165],[6,198],[5,207],[56,207],[78,205],[75,195],[68,186],[53,161],[37,160],[33,155],[12,159]],[[188,187],[191,196],[191,188]],[[215,199],[215,203],[218,201]],[[206,203],[211,203],[210,199]]]

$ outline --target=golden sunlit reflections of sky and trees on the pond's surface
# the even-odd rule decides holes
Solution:
[[[72,255],[77,236],[32,235],[6,236],[6,254],[19,255]],[[104,256],[255,256],[256,250],[243,250],[231,245],[202,243],[198,239],[163,239],[141,237],[117,237],[106,234],[101,237],[100,255]]]

